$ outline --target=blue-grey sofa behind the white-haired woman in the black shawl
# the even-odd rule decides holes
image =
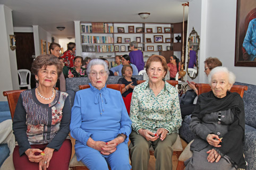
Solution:
[[[244,155],[248,163],[248,170],[256,167],[256,85],[235,82],[234,85],[248,86],[248,90],[244,92],[244,111],[245,111],[245,138],[244,138]],[[182,122],[179,130],[180,137],[186,142],[190,142],[194,138],[194,133],[190,130],[189,124],[191,115],[187,115]]]

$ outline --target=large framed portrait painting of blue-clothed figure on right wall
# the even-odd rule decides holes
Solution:
[[[256,45],[252,43],[256,32],[253,26],[256,20],[255,6],[255,0],[237,0],[235,66],[256,67],[256,55],[253,55]]]

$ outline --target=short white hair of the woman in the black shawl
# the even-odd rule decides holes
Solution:
[[[232,86],[235,83],[235,79],[236,76],[234,75],[234,73],[232,73],[231,71],[229,71],[227,69],[227,67],[215,67],[214,69],[211,70],[209,76],[208,76],[208,83],[211,85],[211,78],[213,75],[215,75],[216,73],[227,73],[228,74],[228,83],[230,83]]]

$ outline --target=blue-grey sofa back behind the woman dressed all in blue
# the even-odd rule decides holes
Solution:
[[[117,84],[118,79],[123,76],[108,76],[106,84]],[[137,80],[143,80],[142,75],[132,76]],[[73,106],[75,99],[75,92],[79,91],[79,85],[89,84],[89,77],[74,77],[74,78],[66,78],[66,93],[70,96],[70,103]]]

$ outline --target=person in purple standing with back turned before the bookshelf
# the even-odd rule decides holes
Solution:
[[[141,50],[138,50],[138,42],[136,41],[132,41],[130,43],[130,47],[132,50],[129,53],[131,59],[130,61],[138,68],[138,72],[140,72],[140,70],[143,70],[145,66],[145,62],[143,60],[143,53],[141,52]]]

